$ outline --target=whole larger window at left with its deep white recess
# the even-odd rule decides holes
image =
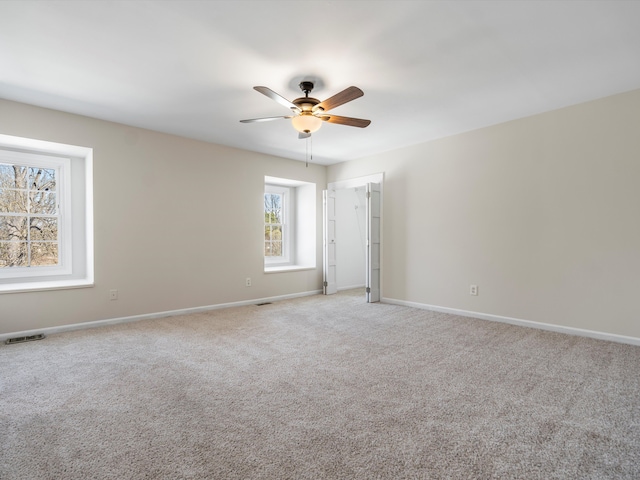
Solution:
[[[0,135],[0,293],[93,283],[91,153]]]

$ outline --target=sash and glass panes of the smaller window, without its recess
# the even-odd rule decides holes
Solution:
[[[286,265],[292,258],[294,208],[292,189],[265,185],[264,192],[264,258],[270,265]]]

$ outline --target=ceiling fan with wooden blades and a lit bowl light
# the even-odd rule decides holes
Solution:
[[[358,87],[349,87],[343,91],[336,93],[333,97],[321,102],[317,98],[309,96],[313,90],[313,82],[300,82],[300,90],[304,93],[304,97],[296,98],[290,102],[281,95],[267,87],[253,87],[254,90],[266,95],[271,100],[278,102],[291,109],[292,115],[281,117],[266,118],[250,118],[248,120],[240,120],[242,123],[268,122],[270,120],[279,120],[281,118],[291,118],[293,128],[298,131],[298,138],[308,138],[313,132],[318,131],[322,126],[322,122],[337,123],[339,125],[348,125],[351,127],[365,128],[371,123],[371,120],[362,118],[340,117],[338,115],[327,114],[329,110],[343,105],[351,100],[364,95],[364,92]]]

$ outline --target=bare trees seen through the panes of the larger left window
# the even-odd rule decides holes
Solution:
[[[56,170],[0,163],[0,268],[58,265]]]

